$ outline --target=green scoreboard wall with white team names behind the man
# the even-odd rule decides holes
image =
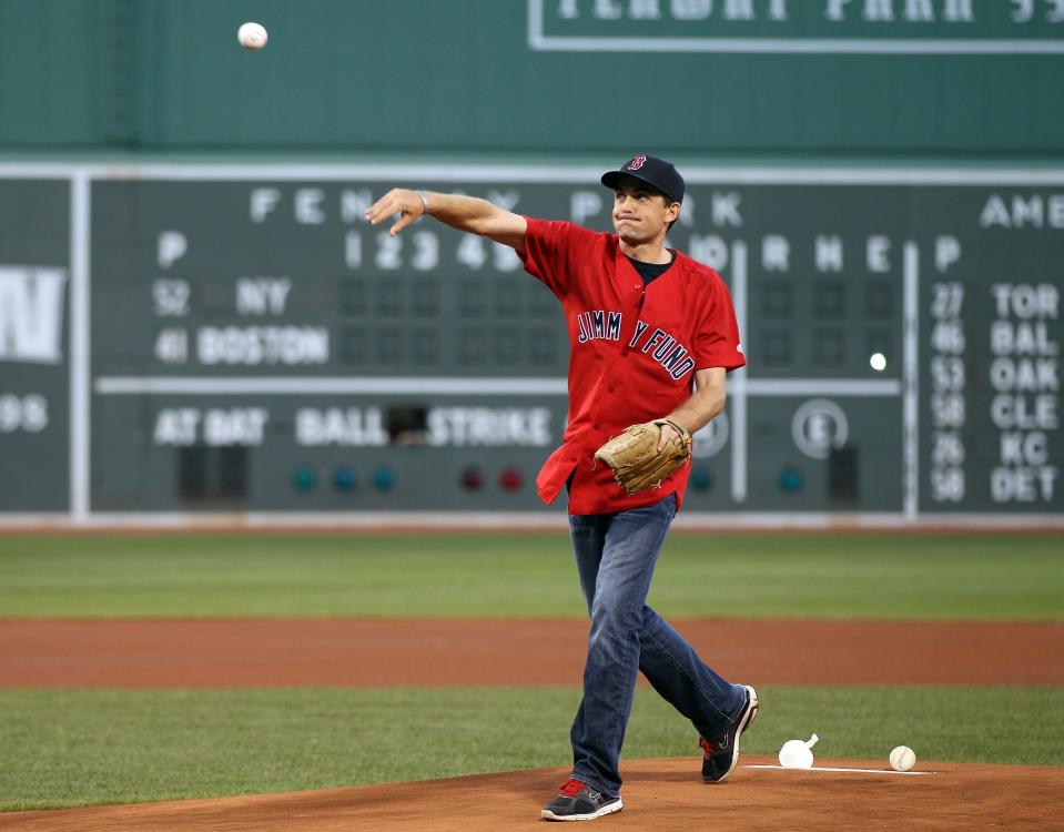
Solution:
[[[1061,515],[1064,173],[683,172],[670,244],[749,361],[687,511]],[[0,168],[0,513],[550,510],[557,302],[508,248],[362,216],[402,184],[606,230],[599,173]]]

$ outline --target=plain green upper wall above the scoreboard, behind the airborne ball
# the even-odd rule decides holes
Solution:
[[[973,21],[944,19],[967,4]],[[905,0],[872,3],[892,22],[863,19],[865,0],[834,22],[827,0],[782,3],[786,21],[773,6],[729,21],[728,0],[543,0],[533,26],[536,0],[2,0],[0,150],[1064,156],[1064,54],[827,51],[844,38],[1060,48],[1054,3],[1033,0],[1028,22],[1013,0],[911,4],[934,22],[902,20]],[[640,8],[661,18],[632,20]],[[264,51],[236,44],[244,20],[268,29]],[[602,49],[632,35],[638,49]]]

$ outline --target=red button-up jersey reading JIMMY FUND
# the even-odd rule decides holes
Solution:
[[[536,479],[539,497],[553,503],[572,476],[569,514],[622,511],[673,493],[679,506],[690,466],[629,497],[595,451],[629,425],[672,412],[691,395],[695,371],[746,364],[728,287],[679,252],[645,285],[615,234],[526,220],[525,270],[561,302],[569,331],[568,425]]]

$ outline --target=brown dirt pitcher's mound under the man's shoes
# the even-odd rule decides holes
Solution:
[[[743,755],[726,783],[706,785],[698,760],[622,764],[625,809],[594,821],[604,830],[1064,829],[1057,811],[1064,769],[920,762],[924,777],[886,760],[824,760],[784,771]],[[351,832],[538,830],[567,769],[386,783],[328,791],[0,814],[0,830],[48,832]]]

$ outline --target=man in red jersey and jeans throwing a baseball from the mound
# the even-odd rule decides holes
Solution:
[[[389,191],[366,212],[373,224],[398,215],[393,235],[429,214],[513,247],[565,313],[569,423],[536,486],[547,503],[568,490],[591,626],[572,774],[541,812],[557,821],[620,811],[618,760],[637,671],[695,726],[708,783],[734,769],[759,704],[753,688],[724,681],[646,605],[687,486],[689,466],[676,465],[689,456],[690,435],[723,409],[724,375],[746,363],[731,297],[716,272],[665,247],[683,203],[671,163],[637,155],[602,184],[614,191],[614,234],[424,191]],[[610,439],[629,426],[615,448]]]

